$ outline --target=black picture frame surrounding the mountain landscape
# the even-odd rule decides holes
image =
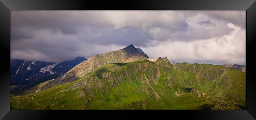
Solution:
[[[256,46],[255,0],[0,0],[0,118],[2,120],[46,120],[88,118],[188,118],[190,120],[255,120]],[[246,110],[243,111],[28,111],[10,110],[9,60],[11,10],[246,10]]]

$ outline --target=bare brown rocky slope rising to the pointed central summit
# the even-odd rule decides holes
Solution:
[[[144,53],[139,52],[134,45],[129,45],[118,51],[111,51],[101,55],[94,55],[86,61],[76,65],[74,68],[70,69],[67,73],[56,80],[52,80],[46,84],[43,89],[51,87],[53,85],[63,84],[72,82],[84,75],[87,75],[91,71],[109,63],[126,63],[139,60],[147,60],[148,56]]]

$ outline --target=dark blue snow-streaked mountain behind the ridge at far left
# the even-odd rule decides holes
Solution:
[[[10,60],[11,93],[29,89],[46,80],[57,78],[84,60],[86,60],[84,57],[60,63]]]

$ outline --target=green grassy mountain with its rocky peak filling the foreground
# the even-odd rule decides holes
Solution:
[[[129,45],[11,95],[11,110],[241,110],[245,95],[244,72],[222,65],[172,64]]]

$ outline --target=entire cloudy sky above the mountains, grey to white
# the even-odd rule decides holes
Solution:
[[[11,58],[61,62],[140,47],[150,58],[246,64],[245,11],[11,11]]]

